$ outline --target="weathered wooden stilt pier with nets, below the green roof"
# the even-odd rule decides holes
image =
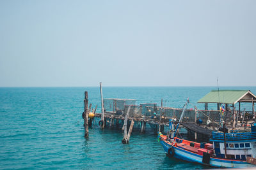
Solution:
[[[151,128],[150,131],[164,132],[164,127],[168,127],[170,121],[172,121],[174,125],[177,125],[182,113],[182,108],[164,107],[163,99],[161,101],[161,106],[157,106],[156,103],[142,103],[136,105],[136,100],[134,99],[104,99],[102,95],[102,83],[100,83],[100,98],[101,113],[96,113],[97,106],[95,110],[91,111],[92,104],[88,106],[88,92],[84,92],[84,112],[82,117],[84,119],[85,138],[88,138],[89,127],[92,127],[93,122],[93,124],[99,124],[101,129],[106,127],[122,127],[124,136],[121,141],[122,143],[127,144],[129,143],[132,130],[134,129],[134,124],[137,125],[137,131],[139,125],[139,131],[141,133],[145,132],[146,127]],[[254,100],[255,99],[252,99],[253,106]],[[207,105],[208,104],[206,103],[205,107],[207,107]],[[220,104],[218,104],[218,108],[220,108]],[[231,112],[233,114],[231,114]],[[236,127],[236,129],[244,130],[248,128],[247,123],[250,121],[252,122],[252,118],[248,119],[248,112],[242,112],[243,117],[241,117],[242,114],[240,108],[239,111],[236,111],[234,106],[232,110],[227,109],[225,111],[225,120],[228,120],[228,118],[233,115],[233,118],[230,118],[232,122],[230,121],[228,124],[230,130],[231,128],[234,130],[234,127]],[[180,125],[187,129],[188,136],[193,136],[195,141],[200,141],[201,139],[209,138],[211,131],[218,131],[220,127],[220,116],[220,110],[197,110],[195,106],[195,110],[185,111],[184,118]],[[246,125],[243,126],[244,124]]]

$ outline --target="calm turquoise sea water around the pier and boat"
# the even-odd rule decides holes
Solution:
[[[216,87],[103,87],[104,98],[137,99],[188,108]],[[256,87],[221,87],[250,89]],[[0,169],[204,169],[208,167],[169,159],[152,132],[134,130],[123,145],[120,129],[90,129],[84,139],[83,99],[98,105],[99,87],[0,88]],[[216,108],[215,104],[212,106]],[[252,105],[242,105],[252,110]],[[148,129],[149,130],[149,129]]]

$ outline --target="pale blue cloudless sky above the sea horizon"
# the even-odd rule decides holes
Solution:
[[[0,1],[0,86],[256,85],[256,1]]]

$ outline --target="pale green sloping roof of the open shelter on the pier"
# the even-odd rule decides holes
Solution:
[[[211,90],[197,103],[236,104],[252,103],[252,101],[256,101],[256,96],[250,90]]]

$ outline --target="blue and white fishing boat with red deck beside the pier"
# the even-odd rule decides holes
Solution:
[[[189,101],[184,105],[175,130],[173,130],[173,120],[171,120],[168,135],[158,132],[161,145],[168,157],[212,167],[256,167],[256,124],[252,125],[251,132],[227,133],[225,128],[223,132],[212,132],[210,141],[213,144],[177,138],[177,130],[188,103]]]

